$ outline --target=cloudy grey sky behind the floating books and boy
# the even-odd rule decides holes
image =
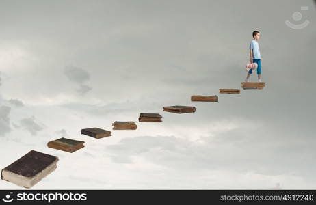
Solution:
[[[316,189],[315,5],[0,1],[0,168],[36,150],[59,161],[31,189]],[[246,78],[254,30],[265,88],[219,94]],[[140,123],[141,112],[163,122]],[[112,136],[80,134],[90,127]],[[85,148],[47,147],[60,137]]]

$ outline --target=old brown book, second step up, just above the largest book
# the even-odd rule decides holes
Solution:
[[[73,153],[83,148],[84,147],[83,143],[85,142],[62,137],[60,139],[49,141],[49,143],[47,143],[47,146],[49,148],[54,148],[57,150]]]

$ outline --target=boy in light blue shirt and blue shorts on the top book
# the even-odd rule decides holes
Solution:
[[[258,64],[258,68],[256,68],[256,74],[258,74],[258,81],[261,82],[261,55],[259,50],[259,44],[258,40],[260,38],[260,32],[259,31],[253,31],[252,37],[254,40],[250,42],[249,46],[249,53],[250,53],[250,63],[256,63]],[[248,79],[250,77],[250,74],[252,73],[252,69],[250,69],[247,73],[247,78],[245,82],[248,82]]]

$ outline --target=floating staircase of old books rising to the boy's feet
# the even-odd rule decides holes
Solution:
[[[265,83],[243,82],[241,88],[246,89],[263,89]],[[240,89],[220,89],[220,94],[240,94]],[[218,102],[218,96],[191,96],[192,102]],[[194,113],[196,107],[184,105],[172,105],[163,107],[163,111],[170,113]],[[162,116],[159,113],[140,113],[138,118],[139,122],[162,122]],[[112,123],[113,130],[135,130],[137,124],[131,121],[115,121]],[[95,139],[111,136],[111,131],[102,128],[83,128],[81,129],[82,135],[88,135]],[[64,137],[49,141],[47,146],[49,148],[62,150],[65,152],[75,152],[84,148],[84,141],[75,139],[66,139]],[[49,175],[57,167],[57,156],[45,154],[31,150],[14,163],[8,165],[1,170],[1,179],[12,182],[21,187],[30,188],[39,182],[42,178]]]

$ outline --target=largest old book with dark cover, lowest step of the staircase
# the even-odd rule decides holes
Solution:
[[[1,170],[1,179],[31,188],[57,167],[58,157],[31,150]]]

